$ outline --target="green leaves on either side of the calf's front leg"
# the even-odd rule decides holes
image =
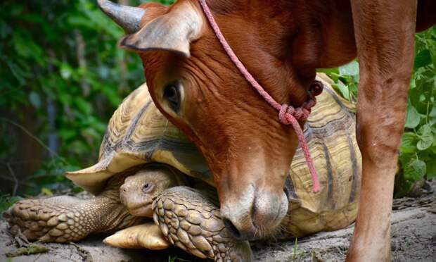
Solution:
[[[355,102],[359,65],[352,61],[340,68],[321,70],[333,87]],[[413,182],[436,177],[436,27],[416,35],[416,58],[409,89],[404,136],[396,180],[396,196],[406,194]]]

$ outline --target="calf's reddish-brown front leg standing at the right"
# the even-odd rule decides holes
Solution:
[[[413,66],[416,1],[352,0],[363,175],[347,261],[390,261],[390,213]]]

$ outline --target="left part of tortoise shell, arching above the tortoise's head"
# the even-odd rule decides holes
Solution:
[[[124,99],[110,118],[98,163],[66,175],[86,191],[99,194],[108,178],[150,162],[167,163],[182,173],[200,176],[213,184],[203,156],[186,135],[160,113],[148,87],[143,84]]]

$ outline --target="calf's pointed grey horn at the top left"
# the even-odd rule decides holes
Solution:
[[[143,14],[146,13],[145,9],[122,6],[108,0],[98,0],[97,3],[101,10],[127,33],[132,34],[141,29],[140,23]]]

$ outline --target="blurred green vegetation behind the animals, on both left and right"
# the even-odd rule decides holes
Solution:
[[[139,58],[117,48],[122,35],[95,1],[2,1],[0,195],[74,188],[65,170],[96,162],[113,111],[145,81]],[[436,176],[435,28],[416,40],[398,195],[413,182]],[[324,71],[345,98],[355,100],[357,62]],[[1,199],[0,208],[15,198]]]

